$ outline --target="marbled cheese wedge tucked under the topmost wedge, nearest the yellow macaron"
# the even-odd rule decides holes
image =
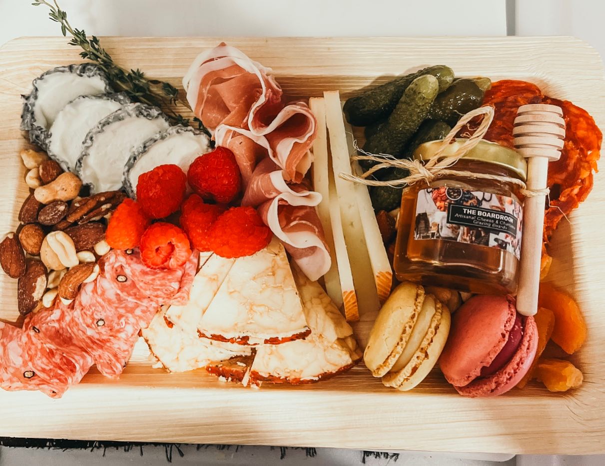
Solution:
[[[292,267],[311,334],[304,340],[258,346],[251,384],[317,382],[347,371],[361,359],[353,329],[330,297],[295,264]]]

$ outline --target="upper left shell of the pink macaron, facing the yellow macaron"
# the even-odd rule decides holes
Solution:
[[[463,387],[489,366],[515,323],[514,298],[476,295],[456,311],[439,367],[453,386]]]

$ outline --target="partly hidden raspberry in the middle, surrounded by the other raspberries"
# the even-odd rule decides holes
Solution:
[[[198,251],[211,251],[208,229],[217,220],[223,209],[214,204],[206,204],[197,194],[190,195],[181,206],[181,227]]]

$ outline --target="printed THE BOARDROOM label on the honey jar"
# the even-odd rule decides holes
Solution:
[[[462,188],[422,189],[416,201],[415,240],[446,240],[521,255],[523,208],[517,200]]]

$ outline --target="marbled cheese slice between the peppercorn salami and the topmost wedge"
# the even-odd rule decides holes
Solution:
[[[193,330],[195,333],[201,317],[235,263],[235,259],[226,259],[216,254],[204,259],[200,255],[200,263],[202,260],[204,264],[195,275],[189,291],[189,302],[185,306],[171,306],[166,312],[166,318],[175,326],[188,331]]]

